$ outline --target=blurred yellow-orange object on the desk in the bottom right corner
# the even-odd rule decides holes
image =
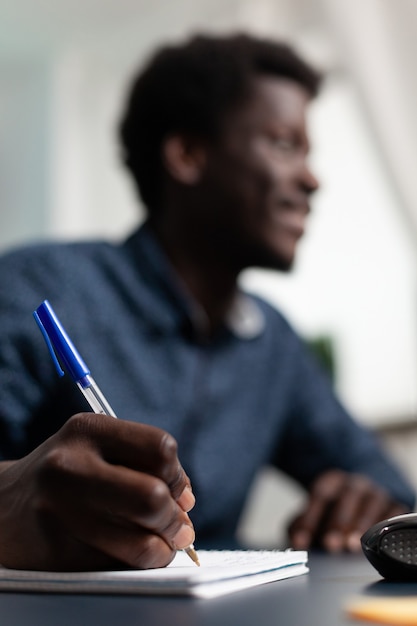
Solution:
[[[417,595],[357,598],[345,610],[356,620],[390,626],[417,626]]]

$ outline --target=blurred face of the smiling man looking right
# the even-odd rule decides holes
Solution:
[[[297,83],[258,77],[207,149],[200,225],[238,271],[293,263],[318,186],[306,163],[308,102]]]

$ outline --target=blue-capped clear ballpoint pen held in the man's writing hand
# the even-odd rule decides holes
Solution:
[[[90,370],[81,358],[48,300],[44,300],[38,306],[33,312],[33,317],[46,341],[58,374],[64,376],[64,371],[59,362],[60,359],[94,413],[111,415],[117,419],[115,412],[91,376]],[[183,550],[196,565],[200,565],[193,544]]]

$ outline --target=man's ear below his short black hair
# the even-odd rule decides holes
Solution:
[[[171,135],[162,147],[165,167],[174,180],[194,185],[200,180],[206,163],[202,141],[185,135]]]

